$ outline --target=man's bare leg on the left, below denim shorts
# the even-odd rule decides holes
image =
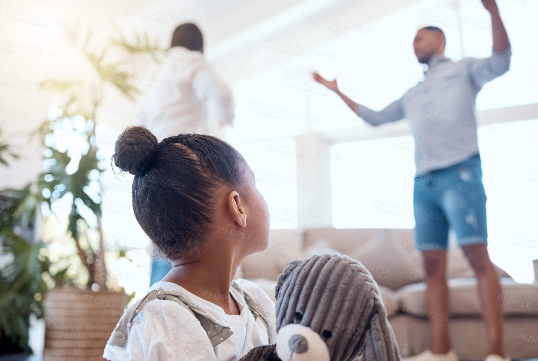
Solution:
[[[426,285],[426,308],[428,314],[443,315],[435,320],[429,317],[431,331],[431,347],[433,353],[447,353],[450,350],[450,335],[448,329],[448,286],[447,286],[447,255],[442,251],[423,252],[424,267],[428,276]]]

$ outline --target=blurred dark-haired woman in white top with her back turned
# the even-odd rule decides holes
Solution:
[[[200,29],[190,23],[176,27],[168,55],[144,101],[145,125],[159,141],[180,133],[221,137],[234,118],[232,93],[211,67],[213,59],[203,54]],[[150,285],[171,268],[154,259]]]

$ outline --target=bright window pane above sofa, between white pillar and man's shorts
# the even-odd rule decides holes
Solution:
[[[336,144],[331,162],[335,228],[414,228],[413,138]]]

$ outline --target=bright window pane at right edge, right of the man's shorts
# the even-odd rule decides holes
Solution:
[[[538,120],[478,132],[490,257],[516,281],[532,282],[538,259]]]

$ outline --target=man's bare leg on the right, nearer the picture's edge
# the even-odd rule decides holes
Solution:
[[[502,295],[499,275],[495,271],[487,253],[487,245],[471,244],[462,247],[465,256],[475,269],[478,279],[478,293],[482,303],[482,318],[486,324],[487,341],[489,342],[487,354],[505,357],[502,344],[502,309],[495,307],[498,297]]]

